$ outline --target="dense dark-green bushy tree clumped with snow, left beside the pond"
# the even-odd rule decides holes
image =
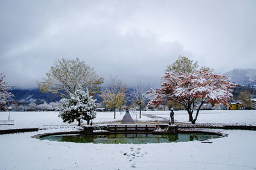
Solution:
[[[58,109],[60,111],[59,117],[63,119],[63,122],[71,123],[77,120],[80,126],[83,120],[89,123],[90,120],[96,118],[96,100],[90,97],[88,91],[78,88],[70,96],[71,98],[61,100],[62,104]]]

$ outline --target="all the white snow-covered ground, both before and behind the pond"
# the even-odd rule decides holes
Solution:
[[[136,119],[136,113],[131,114]],[[168,111],[143,112],[141,120],[166,120],[169,114]],[[122,115],[116,112],[116,120],[122,120],[122,116],[124,112]],[[255,131],[216,130],[228,134],[228,137],[212,139],[211,144],[200,141],[161,144],[60,143],[31,138],[45,132],[74,130],[73,125],[58,118],[58,112],[11,112],[10,118],[15,120],[15,125],[0,126],[1,129],[48,129],[0,135],[0,169],[256,169]],[[0,120],[7,119],[8,112],[0,112]],[[98,112],[93,123],[106,121],[114,121],[113,112]],[[175,121],[187,122],[188,114],[175,111]],[[197,123],[256,125],[256,111],[202,111]]]

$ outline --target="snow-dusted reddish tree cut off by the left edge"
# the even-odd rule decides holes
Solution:
[[[14,97],[12,93],[8,92],[8,90],[11,90],[13,86],[6,84],[3,79],[4,75],[3,73],[0,73],[0,111],[5,111],[5,105],[8,104],[8,98]]]

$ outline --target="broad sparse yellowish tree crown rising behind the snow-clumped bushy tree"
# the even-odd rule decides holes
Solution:
[[[58,94],[63,98],[71,98],[79,86],[88,89],[90,93],[99,92],[100,84],[104,81],[94,68],[78,58],[58,59],[46,75],[44,82],[38,83],[40,90]]]

